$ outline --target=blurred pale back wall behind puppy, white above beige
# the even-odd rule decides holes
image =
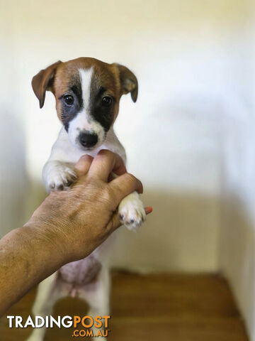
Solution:
[[[1,119],[1,136],[11,141],[6,154],[12,157],[4,157],[8,167],[1,167],[1,179],[13,180],[7,201],[1,192],[1,208],[8,207],[2,233],[21,222],[13,220],[24,197],[22,189],[14,200],[18,184],[26,185],[27,215],[44,197],[40,173],[60,128],[52,94],[39,109],[30,87],[33,75],[56,60],[79,56],[123,63],[136,73],[140,93],[137,104],[123,97],[116,130],[154,213],[137,234],[123,231],[113,265],[142,271],[224,269],[236,287],[239,274],[237,280],[230,276],[229,254],[239,242],[229,246],[229,224],[220,231],[225,221],[220,200],[222,180],[228,186],[229,177],[222,166],[232,151],[224,147],[230,134],[226,122],[251,112],[251,2],[16,0],[0,6],[1,101],[14,118],[11,124]],[[248,109],[233,110],[237,107]],[[235,292],[242,305],[241,291]]]

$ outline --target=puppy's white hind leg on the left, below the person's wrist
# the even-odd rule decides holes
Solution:
[[[38,286],[38,293],[33,305],[33,315],[45,318],[50,315],[54,303],[62,296],[60,290],[56,290],[57,273],[46,278]],[[35,328],[26,341],[42,341],[45,336],[46,328]]]

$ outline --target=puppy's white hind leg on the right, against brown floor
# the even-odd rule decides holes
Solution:
[[[111,281],[109,269],[106,266],[103,266],[97,280],[84,287],[84,291],[79,296],[89,303],[90,310],[87,315],[95,318],[98,315],[108,316],[110,314],[110,289]],[[98,330],[101,330],[102,332],[103,328],[104,325],[102,328],[95,328],[94,326],[91,328],[94,335],[92,340],[106,341],[106,337],[96,336],[98,335]]]

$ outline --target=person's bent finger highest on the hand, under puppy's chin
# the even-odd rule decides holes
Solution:
[[[122,175],[126,172],[123,159],[112,151],[106,149],[99,151],[91,163],[89,175],[107,181],[112,171],[117,175]]]

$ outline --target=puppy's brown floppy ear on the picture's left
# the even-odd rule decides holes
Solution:
[[[40,72],[33,77],[32,87],[35,92],[35,96],[39,99],[40,108],[43,107],[46,90],[52,91],[55,72],[60,63],[62,62],[59,60],[57,63],[48,66],[45,70],[40,70]]]

